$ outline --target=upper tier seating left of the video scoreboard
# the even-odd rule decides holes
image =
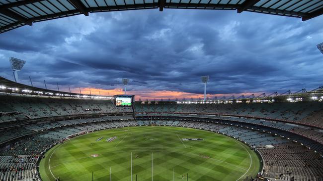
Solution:
[[[2,113],[0,114],[0,123],[27,119],[27,117],[35,119],[55,116],[132,112],[131,107],[116,107],[111,100],[0,95],[0,102],[0,112]]]

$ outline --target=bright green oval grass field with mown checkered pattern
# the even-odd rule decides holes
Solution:
[[[106,141],[113,136],[114,141]],[[173,169],[174,181],[186,181],[186,174],[189,181],[238,181],[254,177],[260,168],[255,152],[228,136],[143,126],[93,132],[58,144],[41,160],[40,175],[43,181],[91,181],[94,172],[94,181],[110,181],[111,167],[112,181],[131,181],[131,153],[133,181],[136,175],[137,181],[152,181],[152,157],[154,181],[172,181]]]

